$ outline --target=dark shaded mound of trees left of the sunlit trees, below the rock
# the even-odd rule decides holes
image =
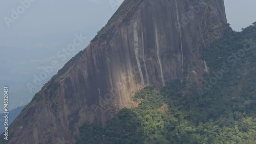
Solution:
[[[141,143],[143,127],[141,119],[131,109],[124,108],[105,127],[99,123],[84,124],[80,128],[83,135],[78,143]]]

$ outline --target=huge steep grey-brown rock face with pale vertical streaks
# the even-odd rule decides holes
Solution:
[[[85,122],[103,124],[136,91],[182,78],[199,83],[202,46],[220,38],[223,0],[126,0],[99,35],[58,71],[9,127],[9,143],[75,143]]]

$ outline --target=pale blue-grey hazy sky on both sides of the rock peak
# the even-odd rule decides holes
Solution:
[[[44,66],[57,62],[59,66],[42,83],[47,82],[89,44],[121,2],[123,0],[0,0],[0,86],[28,91],[26,84],[32,83]],[[227,19],[233,30],[240,31],[256,21],[255,6],[255,0],[225,0]],[[77,36],[83,40],[75,50],[66,58],[57,57]],[[42,83],[29,92],[31,98]],[[20,95],[15,97],[20,97],[22,103],[30,101]]]

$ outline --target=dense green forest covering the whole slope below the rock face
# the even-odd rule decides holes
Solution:
[[[84,124],[77,143],[255,143],[256,25],[242,32],[224,27],[223,37],[202,53],[211,71],[204,80],[223,67],[228,71],[207,90],[198,93],[184,80],[168,82],[160,92],[147,86],[134,95],[138,107],[120,110],[105,126]]]

